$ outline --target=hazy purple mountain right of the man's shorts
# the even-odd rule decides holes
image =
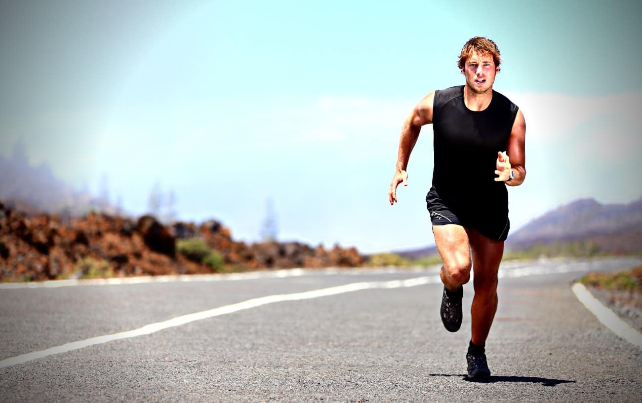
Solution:
[[[511,248],[642,232],[642,198],[630,204],[600,204],[592,198],[562,205],[508,237]]]

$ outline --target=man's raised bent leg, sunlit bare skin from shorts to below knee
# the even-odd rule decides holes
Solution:
[[[444,265],[439,271],[444,286],[455,292],[471,279],[471,251],[468,234],[461,225],[433,225],[435,244]]]

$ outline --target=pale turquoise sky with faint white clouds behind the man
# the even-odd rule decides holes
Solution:
[[[271,203],[281,241],[428,246],[431,126],[388,203],[401,124],[464,84],[456,58],[480,35],[526,118],[515,230],[577,198],[642,196],[639,15],[638,1],[4,1],[0,155],[22,141],[31,164],[106,183],[131,214],[159,185],[178,218],[248,242]]]

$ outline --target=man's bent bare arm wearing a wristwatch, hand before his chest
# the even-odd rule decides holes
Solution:
[[[498,166],[496,175],[499,175],[495,180],[503,180],[504,182],[508,179],[510,169],[513,170],[515,177],[509,182],[505,182],[508,186],[519,186],[521,185],[526,178],[526,151],[525,151],[525,139],[526,139],[526,121],[521,110],[517,110],[517,116],[513,123],[513,128],[510,132],[510,137],[508,137],[508,144],[506,146],[506,156],[505,161],[501,161],[498,157]]]

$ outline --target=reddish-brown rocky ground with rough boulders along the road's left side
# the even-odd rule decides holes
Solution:
[[[204,241],[222,259],[221,267],[180,252],[181,239]],[[361,264],[363,257],[355,248],[234,241],[229,228],[218,221],[162,225],[152,216],[130,219],[95,212],[61,218],[26,214],[0,202],[3,282]]]

